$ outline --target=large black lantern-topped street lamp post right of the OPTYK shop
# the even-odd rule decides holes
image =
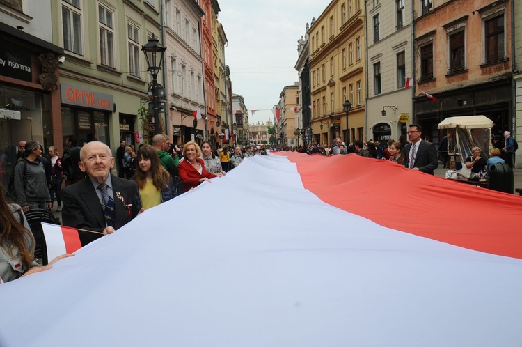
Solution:
[[[163,63],[163,54],[167,47],[162,46],[159,40],[152,35],[148,43],[141,46],[141,50],[145,52],[145,61],[147,61],[147,70],[152,75],[152,109],[154,112],[154,134],[160,134],[159,131],[159,95],[160,88],[158,84],[158,73],[161,70],[161,63]],[[165,93],[163,87],[161,87]]]

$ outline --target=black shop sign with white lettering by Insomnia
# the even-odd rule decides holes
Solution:
[[[0,40],[0,47],[0,75],[32,82],[31,52],[4,40]]]

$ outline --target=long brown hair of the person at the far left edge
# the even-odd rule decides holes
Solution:
[[[20,217],[20,221],[15,218],[11,212],[3,192],[0,194],[0,247],[2,247],[7,254],[14,257],[13,246],[18,249],[19,257],[26,268],[31,266],[34,260],[32,250],[35,246],[35,241],[31,231],[24,228],[20,222],[23,223],[22,209],[15,211]],[[27,247],[26,240],[31,240],[31,245]]]

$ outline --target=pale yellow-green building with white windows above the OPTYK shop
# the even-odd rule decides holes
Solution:
[[[65,50],[60,66],[61,132],[79,145],[99,140],[116,151],[120,139],[139,144],[154,132],[138,116],[148,107],[147,72],[141,46],[161,38],[161,3],[147,0],[52,1],[53,43]],[[164,84],[159,77],[159,83]],[[162,117],[163,118],[163,117]],[[164,119],[159,124],[165,129]]]

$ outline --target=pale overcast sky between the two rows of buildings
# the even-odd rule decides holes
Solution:
[[[243,95],[249,115],[252,109],[271,109],[283,88],[299,79],[294,69],[297,40],[305,35],[306,23],[319,17],[331,0],[218,1],[232,93]],[[271,111],[257,111],[249,121],[252,125],[269,118]]]

